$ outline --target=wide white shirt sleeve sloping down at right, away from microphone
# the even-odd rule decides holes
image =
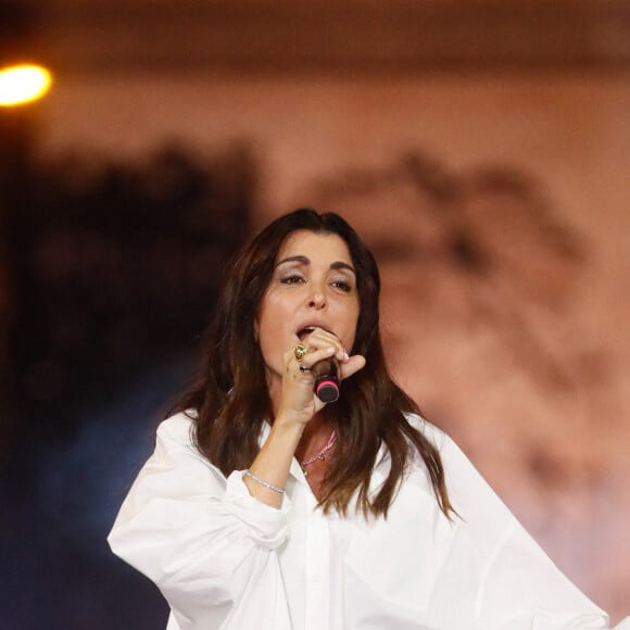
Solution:
[[[445,436],[441,442],[449,490],[462,517],[459,531],[478,571],[479,628],[608,628],[607,615],[553,564],[456,444]]]

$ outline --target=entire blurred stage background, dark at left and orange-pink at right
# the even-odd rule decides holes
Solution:
[[[613,621],[630,613],[630,5],[2,0],[0,606],[164,628],[105,536],[224,265],[343,214],[392,370]],[[0,94],[2,93],[0,75]]]

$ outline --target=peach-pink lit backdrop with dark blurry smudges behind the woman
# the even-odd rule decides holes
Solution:
[[[38,151],[242,139],[261,224],[297,205],[346,215],[381,261],[395,375],[615,620],[630,602],[628,112],[622,74],[110,74],[59,81]]]

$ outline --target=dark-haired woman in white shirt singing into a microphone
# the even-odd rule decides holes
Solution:
[[[606,628],[391,380],[379,289],[339,216],[265,228],[227,276],[114,552],[159,585],[171,630]],[[327,361],[341,393],[324,403]]]

